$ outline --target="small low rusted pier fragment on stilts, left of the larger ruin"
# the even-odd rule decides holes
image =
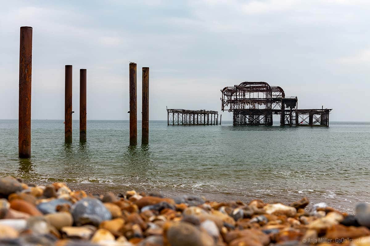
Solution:
[[[218,112],[209,110],[167,109],[167,125],[218,125]],[[221,120],[220,120],[221,124]]]

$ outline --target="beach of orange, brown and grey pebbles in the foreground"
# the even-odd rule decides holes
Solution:
[[[201,194],[163,197],[71,190],[0,178],[0,246],[370,245],[370,206],[356,214],[309,198],[215,202]]]

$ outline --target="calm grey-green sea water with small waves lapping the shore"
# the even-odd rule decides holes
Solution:
[[[167,126],[150,122],[149,146],[128,147],[128,121],[88,121],[64,144],[63,120],[32,121],[32,157],[19,159],[18,121],[0,120],[0,174],[88,191],[158,190],[213,200],[285,202],[303,196],[344,211],[370,202],[370,123],[320,127]],[[138,124],[141,141],[141,122]]]

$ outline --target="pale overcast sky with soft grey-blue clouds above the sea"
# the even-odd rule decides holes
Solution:
[[[0,118],[18,118],[19,29],[33,27],[32,119],[64,118],[64,66],[87,69],[87,119],[128,119],[129,62],[150,67],[149,118],[221,111],[221,89],[280,86],[332,121],[370,121],[367,0],[0,0]],[[221,112],[220,112],[221,113]],[[232,113],[223,112],[223,120]]]

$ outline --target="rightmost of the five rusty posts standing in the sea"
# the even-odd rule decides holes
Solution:
[[[141,144],[145,145],[149,143],[149,67],[142,68],[142,116],[141,117],[142,117]]]

